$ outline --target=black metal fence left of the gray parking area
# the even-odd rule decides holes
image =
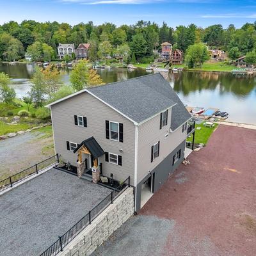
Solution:
[[[28,177],[31,177],[32,175],[35,175],[48,166],[51,166],[54,163],[59,162],[59,156],[58,154],[51,156],[44,161],[37,163],[19,173],[16,173],[15,175],[12,175],[8,177],[5,180],[0,181],[0,192],[4,191],[5,189],[12,188],[13,185],[21,182],[22,180],[28,179]]]

